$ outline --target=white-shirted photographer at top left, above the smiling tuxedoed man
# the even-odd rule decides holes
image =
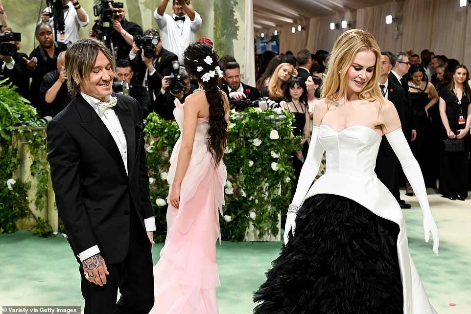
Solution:
[[[78,40],[80,27],[85,27],[90,22],[87,12],[77,0],[54,0],[41,14],[41,22],[51,25],[56,42],[69,44]],[[57,16],[56,16],[57,15]],[[56,19],[57,21],[54,21]],[[54,32],[54,26],[57,29]]]

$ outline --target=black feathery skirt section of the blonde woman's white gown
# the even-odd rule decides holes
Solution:
[[[400,314],[399,226],[342,196],[309,198],[255,292],[257,314]]]

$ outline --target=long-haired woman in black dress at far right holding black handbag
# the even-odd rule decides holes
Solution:
[[[440,90],[440,116],[443,128],[440,143],[440,179],[438,191],[450,200],[464,201],[468,197],[468,155],[470,152],[471,89],[470,72],[458,65],[452,72],[451,83]],[[463,139],[463,152],[445,152],[443,140]]]

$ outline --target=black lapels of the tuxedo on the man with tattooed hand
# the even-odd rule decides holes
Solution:
[[[111,136],[110,131],[108,131],[108,128],[105,126],[103,121],[101,121],[100,117],[94,111],[92,106],[90,106],[90,104],[80,94],[74,99],[74,102],[77,111],[80,114],[80,125],[82,126],[82,128],[84,128],[106,149],[106,151],[118,164],[123,175],[127,177],[126,169],[124,168],[123,160],[121,158],[121,154],[119,153],[118,146],[116,145],[113,136]],[[132,116],[128,108],[123,104],[120,99],[118,99],[118,103],[115,108],[115,112],[118,116],[119,122],[121,123],[121,127],[126,137],[128,151],[128,174],[131,174],[135,156],[135,139],[133,136],[134,129]]]

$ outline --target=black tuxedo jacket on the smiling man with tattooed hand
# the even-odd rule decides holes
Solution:
[[[128,174],[116,142],[81,95],[47,127],[52,186],[72,250],[78,255],[97,245],[107,264],[126,257],[131,216],[142,225],[133,232],[145,234],[143,220],[154,215],[141,107],[134,98],[112,96],[118,97],[110,110],[115,110],[126,137]]]

